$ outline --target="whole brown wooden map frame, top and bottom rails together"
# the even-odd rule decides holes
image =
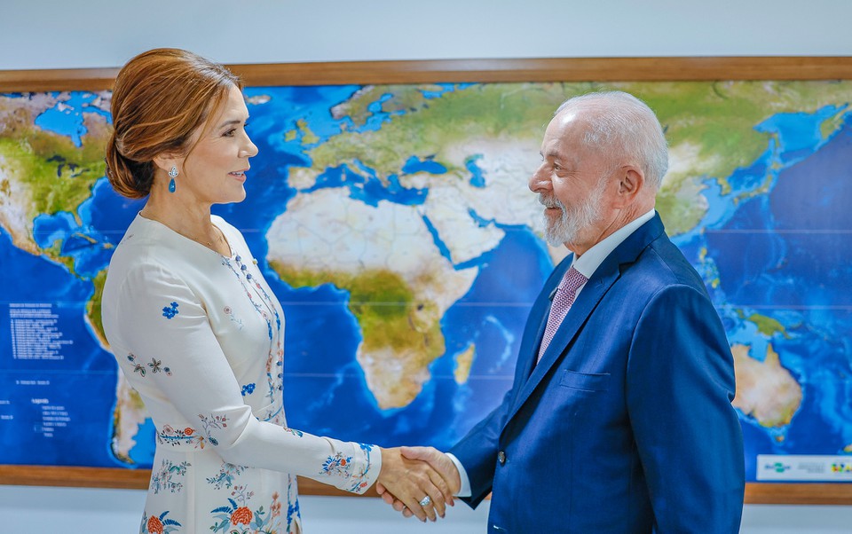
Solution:
[[[229,65],[247,86],[852,80],[852,57],[441,59]],[[118,68],[0,71],[0,92],[106,90]],[[0,465],[0,484],[146,489],[150,470]],[[301,479],[315,495],[352,495]],[[375,490],[367,492],[375,496]],[[852,483],[746,483],[746,504],[852,505]]]

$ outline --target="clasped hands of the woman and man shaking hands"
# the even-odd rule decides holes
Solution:
[[[425,522],[444,517],[446,505],[461,488],[453,460],[432,447],[398,447],[382,450],[382,470],[375,489],[384,502],[406,517]]]

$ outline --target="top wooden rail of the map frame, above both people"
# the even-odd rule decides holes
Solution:
[[[852,79],[852,57],[435,59],[229,65],[250,86]],[[0,91],[105,90],[118,68],[0,71]]]

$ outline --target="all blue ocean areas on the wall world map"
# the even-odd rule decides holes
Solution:
[[[431,101],[470,87],[435,85],[423,96]],[[251,160],[247,199],[216,206],[214,213],[241,229],[284,307],[288,425],[383,446],[446,448],[485,417],[511,386],[527,313],[553,265],[547,247],[531,229],[485,220],[471,210],[477,224],[493,224],[504,237],[484,254],[454,265],[457,270],[477,269],[477,278],[441,320],[446,352],[430,365],[430,380],[422,392],[406,406],[380,408],[355,357],[362,334],[348,309],[348,291],[331,284],[290,287],[265,260],[266,233],[276,217],[286,216],[288,201],[296,194],[335,188],[368,206],[391,202],[415,207],[428,198],[428,187],[406,188],[400,178],[429,173],[439,179],[447,173],[440,161],[412,154],[400,175],[379,176],[355,160],[322,169],[302,190],[291,184],[291,169],[312,164],[312,147],[343,131],[380,130],[394,117],[411,113],[383,112],[382,103],[391,96],[386,93],[368,106],[373,113],[362,124],[335,114],[335,106],[363,89],[248,88],[248,132],[260,153]],[[40,114],[36,126],[80,146],[87,134],[83,113],[108,118],[94,106],[96,98],[71,93]],[[801,406],[790,424],[766,428],[741,414],[750,481],[755,480],[757,454],[843,454],[842,445],[826,450],[825,444],[852,444],[852,124],[847,120],[830,134],[823,130],[824,123],[842,111],[825,106],[812,114],[776,114],[755,125],[770,134],[765,151],[728,177],[706,177],[703,219],[673,236],[705,278],[730,342],[748,347],[758,360],[774,350],[801,384]],[[465,160],[469,184],[477,188],[488,183],[481,160],[482,154],[476,153]],[[518,186],[526,187],[525,182]],[[106,269],[114,246],[143,204],[122,199],[101,178],[75,213],[36,216],[32,240],[42,250],[58,250],[61,263],[18,247],[0,227],[0,345],[15,343],[5,327],[12,323],[12,303],[49,306],[65,342],[49,363],[4,360],[0,392],[12,391],[16,399],[25,400],[16,401],[14,422],[4,427],[12,432],[4,431],[0,438],[0,463],[150,467],[151,420],[138,428],[131,464],[114,453],[117,367],[86,318],[93,279]],[[434,246],[452,263],[434,222],[423,216],[423,224]],[[777,330],[767,333],[755,317],[764,318],[762,328],[772,324]],[[476,357],[469,378],[459,383],[454,374],[457,357],[470,347],[476,347]],[[70,421],[44,428],[45,411]]]

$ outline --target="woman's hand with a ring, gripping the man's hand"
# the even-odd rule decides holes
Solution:
[[[453,492],[442,475],[427,461],[406,458],[399,448],[382,450],[376,491],[383,496],[390,492],[399,509],[406,507],[410,512],[406,517],[413,514],[421,521],[444,517],[445,503],[453,504]]]

